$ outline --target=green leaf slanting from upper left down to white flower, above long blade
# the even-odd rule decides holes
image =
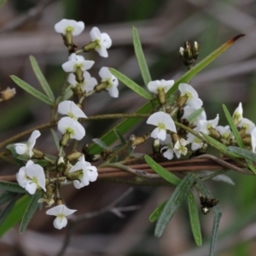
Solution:
[[[142,86],[136,84],[131,79],[127,78],[124,74],[119,73],[119,71],[115,70],[114,68],[109,68],[109,71],[123,84],[125,84],[131,90],[135,91],[139,96],[142,96],[147,100],[153,100],[153,96],[150,92],[148,92],[148,90],[144,90]]]

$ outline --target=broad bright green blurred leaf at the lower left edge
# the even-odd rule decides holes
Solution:
[[[0,237],[12,228],[15,224],[17,224],[22,218],[24,212],[26,211],[26,207],[30,202],[30,197],[28,195],[22,196],[15,204],[15,207],[9,212],[7,218],[5,218],[2,225],[0,225]],[[17,214],[19,212],[19,214]]]

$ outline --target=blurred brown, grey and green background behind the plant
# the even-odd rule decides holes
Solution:
[[[9,78],[11,74],[24,79],[40,89],[29,62],[34,55],[55,95],[60,94],[66,74],[61,64],[67,61],[67,50],[54,25],[59,20],[83,20],[85,30],[74,38],[80,47],[90,42],[89,32],[98,26],[113,40],[104,59],[95,52],[85,55],[96,61],[90,73],[99,79],[101,67],[114,67],[138,84],[142,84],[137,61],[133,52],[131,29],[136,26],[143,44],[144,53],[153,80],[177,79],[186,72],[178,55],[184,41],[197,41],[201,51],[199,61],[230,38],[244,33],[218,60],[214,61],[191,82],[198,91],[207,111],[207,119],[220,114],[220,125],[225,125],[222,103],[233,113],[239,102],[244,108],[244,117],[256,122],[256,1],[253,0],[65,0],[36,1],[9,0],[0,10],[0,86],[15,87],[17,94],[0,108],[0,139],[49,122],[50,109],[43,102],[17,88]],[[145,102],[124,84],[119,84],[119,98],[108,93],[89,98],[86,115],[100,113],[132,113]],[[101,137],[102,127],[112,127],[118,121],[90,122],[86,124],[86,137],[81,143],[90,143],[91,138]],[[137,136],[145,132],[143,124],[131,131]],[[106,131],[107,131],[106,130]],[[24,138],[27,140],[27,137]],[[55,154],[50,131],[43,131],[37,148]],[[1,175],[17,172],[1,160]],[[256,250],[256,204],[255,177],[229,172],[236,183],[210,182],[207,186],[219,200],[223,217],[219,227],[217,253],[223,255],[254,255]],[[119,183],[91,183],[81,190],[63,189],[62,195],[71,209],[79,214],[98,211],[108,206],[129,185]],[[68,190],[68,191],[67,191]],[[130,191],[130,190],[129,190]],[[196,247],[189,227],[189,215],[184,204],[167,226],[164,235],[154,237],[154,225],[148,216],[162,201],[172,194],[170,188],[133,187],[119,207],[140,207],[123,212],[119,218],[113,212],[104,213],[79,224],[65,255],[168,255],[204,256],[208,254],[213,214],[201,214],[203,235],[202,247]],[[67,230],[55,230],[53,218],[45,215],[45,208],[32,219],[28,230],[18,234],[18,227],[10,230],[0,240],[1,255],[55,255],[61,247]]]

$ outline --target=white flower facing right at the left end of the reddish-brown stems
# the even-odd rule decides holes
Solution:
[[[79,181],[73,181],[73,185],[76,189],[81,189],[84,186],[89,185],[90,182],[96,181],[96,178],[98,177],[96,166],[91,166],[90,162],[86,162],[84,160],[84,155],[80,157],[79,161],[70,169],[69,172],[76,172],[79,170],[83,170],[83,173],[80,175]]]

